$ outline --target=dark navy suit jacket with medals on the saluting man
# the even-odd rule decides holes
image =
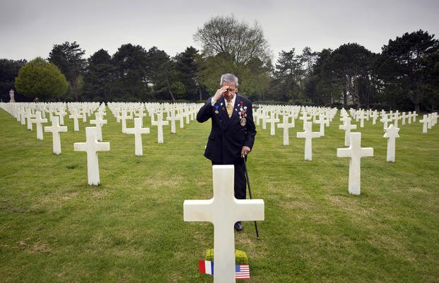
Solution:
[[[236,94],[233,114],[229,118],[224,97],[211,104],[211,98],[206,101],[197,114],[197,121],[203,123],[212,121],[211,133],[207,140],[204,156],[213,162],[235,164],[241,159],[243,146],[252,149],[256,127],[253,121],[252,102]],[[245,125],[244,121],[245,120]]]

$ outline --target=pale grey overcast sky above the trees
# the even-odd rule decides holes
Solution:
[[[213,16],[234,14],[264,30],[276,59],[281,50],[336,49],[357,42],[372,52],[404,32],[439,38],[438,0],[0,0],[0,58],[47,58],[54,44],[78,42],[86,57],[110,55],[126,43],[170,56],[200,49],[192,36]]]

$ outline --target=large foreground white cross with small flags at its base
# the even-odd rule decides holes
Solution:
[[[213,282],[235,282],[235,231],[238,221],[264,220],[264,200],[237,200],[233,165],[213,165],[213,198],[185,200],[185,221],[213,223]]]

